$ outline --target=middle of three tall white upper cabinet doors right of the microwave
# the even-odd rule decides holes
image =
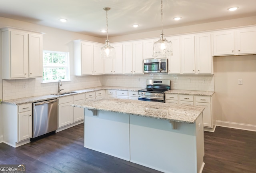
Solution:
[[[195,43],[194,36],[181,38],[182,73],[195,74]]]

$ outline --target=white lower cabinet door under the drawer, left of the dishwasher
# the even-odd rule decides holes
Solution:
[[[32,111],[19,113],[19,137],[18,141],[32,137]]]

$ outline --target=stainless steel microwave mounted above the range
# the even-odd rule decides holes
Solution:
[[[168,73],[168,61],[166,59],[144,60],[144,73]]]

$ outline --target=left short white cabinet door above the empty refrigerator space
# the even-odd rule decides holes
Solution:
[[[213,54],[234,55],[234,31],[217,32],[213,34]]]

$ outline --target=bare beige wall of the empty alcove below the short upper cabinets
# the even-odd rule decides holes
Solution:
[[[256,55],[213,59],[216,124],[256,131]]]

